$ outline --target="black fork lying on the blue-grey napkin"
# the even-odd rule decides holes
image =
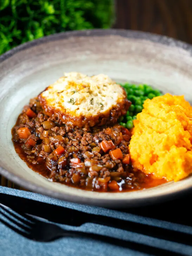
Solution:
[[[109,237],[107,235],[98,235],[94,233],[86,233],[82,231],[70,231],[64,228],[60,228],[56,224],[46,222],[45,219],[37,219],[28,214],[14,211],[5,205],[0,203],[0,213],[3,218],[0,218],[0,222],[4,223],[8,228],[17,232],[21,236],[38,242],[49,242],[60,237],[85,237],[87,239],[97,239],[99,241],[118,245],[124,248],[133,249],[136,251],[147,252],[152,255],[188,255],[180,254],[174,250],[162,249],[161,247],[151,247],[149,245],[141,244],[138,242],[130,242],[119,238]]]

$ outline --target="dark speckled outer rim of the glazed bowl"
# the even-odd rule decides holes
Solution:
[[[166,36],[160,36],[158,34],[152,34],[152,33],[148,33],[148,32],[141,32],[141,31],[133,31],[133,30],[121,30],[121,29],[94,29],[94,30],[84,30],[84,31],[69,31],[69,32],[62,32],[62,33],[57,33],[57,34],[53,34],[50,36],[45,36],[43,38],[39,38],[33,41],[29,41],[27,43],[21,44],[17,47],[14,47],[12,50],[7,51],[6,53],[4,53],[3,55],[0,56],[0,62],[3,62],[4,60],[10,58],[11,56],[13,56],[14,54],[23,51],[25,49],[28,49],[30,47],[36,46],[36,45],[40,45],[40,44],[44,44],[47,41],[57,41],[60,39],[68,39],[70,37],[89,37],[89,36],[111,36],[111,35],[118,35],[118,36],[122,36],[122,37],[126,37],[126,38],[133,38],[133,39],[145,39],[145,40],[149,40],[152,41],[154,43],[160,43],[162,45],[168,45],[171,47],[179,47],[181,49],[184,49],[188,52],[190,52],[190,55],[192,56],[192,45],[187,44],[183,41],[179,41],[170,37],[166,37]],[[84,203],[82,200],[82,198],[79,198],[78,195],[73,195],[73,196],[69,196],[69,198],[66,198],[64,196],[64,193],[61,192],[54,192],[54,191],[49,191],[44,189],[43,187],[40,187],[38,185],[34,185],[28,181],[26,181],[23,178],[18,177],[15,174],[10,173],[9,171],[7,171],[6,169],[0,167],[0,174],[4,177],[6,177],[8,180],[11,180],[12,182],[19,184],[25,188],[27,188],[28,190],[40,193],[40,194],[44,194],[50,197],[54,197],[54,198],[58,198],[58,199],[63,199],[63,200],[68,200],[68,201],[73,201],[75,203]],[[181,194],[184,194],[186,192],[188,192],[190,189],[192,189],[192,184],[191,185],[187,185],[185,188],[183,188],[182,190],[179,191],[170,191],[169,193],[160,193],[158,195],[153,195],[153,193],[150,195],[148,194],[145,198],[145,200],[140,199],[140,198],[134,198],[133,200],[131,200],[130,198],[127,200],[128,205],[126,204],[126,199],[120,199],[120,198],[114,198],[114,201],[119,201],[117,204],[117,207],[121,206],[140,206],[143,204],[150,204],[150,203],[159,203],[160,201],[165,201],[165,200],[169,200],[169,199],[173,199],[175,197],[178,197]],[[87,198],[88,199],[88,198]],[[157,200],[154,200],[157,199]],[[98,198],[98,201],[102,201],[102,205],[104,205],[104,203],[106,203],[106,207],[110,207],[110,202],[113,200],[107,200],[107,199],[101,199]],[[110,202],[109,202],[110,201]],[[85,200],[86,204],[92,204],[91,200]],[[94,203],[95,204],[95,201]],[[97,205],[99,205],[99,203],[96,203]],[[114,203],[111,202],[111,205],[113,205],[114,207]]]

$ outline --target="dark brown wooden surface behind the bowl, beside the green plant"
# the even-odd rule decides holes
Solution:
[[[114,27],[162,34],[192,44],[192,0],[116,0]]]

